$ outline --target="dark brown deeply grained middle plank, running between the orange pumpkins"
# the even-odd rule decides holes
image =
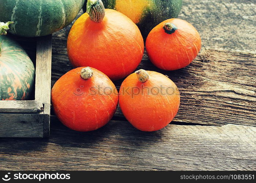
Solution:
[[[52,86],[73,67],[68,61],[66,39],[53,36]],[[176,122],[207,125],[256,126],[256,55],[203,49],[186,68],[163,71],[154,67],[146,51],[138,69],[161,72],[181,92]],[[116,87],[123,80],[114,82]],[[120,108],[114,119],[125,120]]]

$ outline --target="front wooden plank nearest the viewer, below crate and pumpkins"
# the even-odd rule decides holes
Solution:
[[[0,169],[256,170],[256,127],[170,124],[141,132],[111,121],[96,131],[76,132],[51,121],[49,139],[2,138]]]

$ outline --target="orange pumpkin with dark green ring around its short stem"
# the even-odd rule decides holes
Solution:
[[[185,20],[173,18],[157,25],[146,39],[149,59],[163,70],[188,66],[201,49],[198,31]]]

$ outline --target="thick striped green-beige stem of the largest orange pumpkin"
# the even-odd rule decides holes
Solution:
[[[101,0],[88,0],[86,13],[93,22],[99,23],[105,16],[105,8]]]

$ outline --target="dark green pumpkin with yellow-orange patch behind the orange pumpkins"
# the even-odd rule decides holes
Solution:
[[[141,30],[144,38],[159,23],[177,18],[182,0],[102,0],[105,8],[128,16]],[[86,7],[84,7],[84,11]]]

